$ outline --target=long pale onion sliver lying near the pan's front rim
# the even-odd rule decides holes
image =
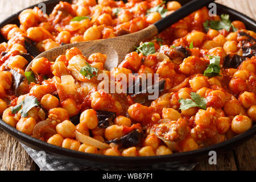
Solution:
[[[92,137],[83,135],[83,134],[79,133],[78,131],[76,131],[76,139],[81,143],[85,143],[85,144],[88,144],[89,146],[94,146],[94,147],[97,147],[100,149],[110,148],[109,144],[100,142],[99,140],[96,140]]]

